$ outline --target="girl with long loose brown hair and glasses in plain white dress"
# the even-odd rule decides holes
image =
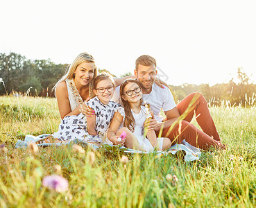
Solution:
[[[151,119],[151,112],[142,105],[142,92],[136,80],[125,80],[120,87],[120,96],[126,113],[123,126],[134,133],[139,145],[146,151],[166,150],[171,147],[168,138],[157,138],[154,130],[144,128],[146,119]]]

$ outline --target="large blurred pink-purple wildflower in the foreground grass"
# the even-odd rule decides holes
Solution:
[[[48,175],[44,177],[42,184],[44,187],[53,189],[58,193],[67,191],[67,189],[69,189],[69,183],[60,175]]]

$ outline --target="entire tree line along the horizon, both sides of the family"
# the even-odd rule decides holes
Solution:
[[[51,89],[68,67],[68,64],[55,64],[51,60],[28,60],[17,53],[0,53],[0,78],[3,80],[0,83],[0,95],[19,93],[54,96]],[[126,75],[130,73],[121,76]],[[201,92],[212,105],[221,105],[221,102],[227,105],[255,105],[256,85],[241,68],[237,69],[237,78],[239,83],[234,83],[232,78],[228,83],[214,86],[183,84],[169,87],[177,102],[191,92]]]

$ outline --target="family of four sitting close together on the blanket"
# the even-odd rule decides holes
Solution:
[[[137,58],[134,76],[113,78],[98,73],[92,55],[80,53],[55,91],[62,119],[51,135],[55,142],[82,139],[146,152],[182,141],[200,149],[225,148],[203,95],[189,94],[176,105],[150,55]],[[190,123],[194,116],[201,130]]]

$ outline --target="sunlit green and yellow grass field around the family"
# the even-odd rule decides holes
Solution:
[[[15,149],[25,135],[58,130],[58,106],[54,98],[2,96],[0,207],[255,207],[256,109],[210,111],[226,150],[203,152],[194,162],[153,153],[127,161],[117,149]],[[47,175],[62,175],[68,189],[46,188]]]

